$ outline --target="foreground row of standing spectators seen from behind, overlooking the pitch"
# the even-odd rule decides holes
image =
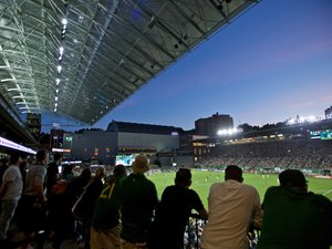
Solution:
[[[270,145],[260,149],[273,158],[269,149],[277,145]],[[286,145],[289,144],[284,143],[282,149],[300,149],[304,144]],[[318,145],[307,144],[305,148],[318,152]],[[248,145],[228,148],[238,156],[241,151],[263,155]],[[38,152],[35,162],[29,165],[21,155],[13,154],[1,173],[0,248],[65,249],[68,240],[81,243],[79,249],[332,246],[332,203],[308,191],[301,170],[281,172],[280,186],[270,187],[261,204],[257,189],[243,184],[242,168],[236,165],[245,155],[235,155],[227,162],[225,180],[210,186],[206,208],[198,193],[190,189],[190,168],[177,168],[174,184],[158,198],[155,184],[148,179],[155,169],[149,168],[144,154],[135,157],[128,172],[124,165],[62,167],[62,155],[53,155],[49,163],[45,151]],[[258,157],[249,158],[247,164],[250,162],[260,163]]]

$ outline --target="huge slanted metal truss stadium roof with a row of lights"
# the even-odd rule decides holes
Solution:
[[[0,94],[94,124],[259,0],[1,0]]]

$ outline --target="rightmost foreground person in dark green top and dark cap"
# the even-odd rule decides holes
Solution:
[[[279,174],[262,204],[263,220],[257,249],[329,249],[332,246],[332,203],[308,191],[299,169]]]

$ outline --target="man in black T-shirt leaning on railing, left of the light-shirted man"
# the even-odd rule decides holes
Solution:
[[[183,249],[186,224],[195,209],[204,219],[207,211],[193,189],[190,169],[180,168],[176,173],[175,185],[165,188],[152,229],[153,249]]]

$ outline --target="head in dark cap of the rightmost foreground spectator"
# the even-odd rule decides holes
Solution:
[[[301,193],[308,191],[307,179],[299,169],[286,169],[279,174],[279,183],[283,187],[292,188]]]

